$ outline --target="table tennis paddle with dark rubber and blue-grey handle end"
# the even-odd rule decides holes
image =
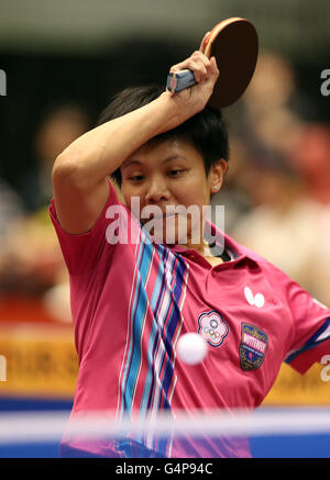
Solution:
[[[212,29],[201,45],[201,52],[208,58],[216,57],[220,72],[208,101],[210,107],[229,107],[244,93],[255,69],[257,51],[256,30],[245,19],[223,20]],[[172,93],[196,83],[194,71],[187,69],[167,77],[167,89]]]

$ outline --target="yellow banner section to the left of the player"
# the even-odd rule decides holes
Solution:
[[[15,327],[0,333],[7,381],[0,394],[72,398],[78,359],[69,328]]]

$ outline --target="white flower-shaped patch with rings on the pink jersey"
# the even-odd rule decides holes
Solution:
[[[222,316],[212,310],[202,313],[198,317],[198,333],[213,347],[219,347],[229,332],[228,325]]]

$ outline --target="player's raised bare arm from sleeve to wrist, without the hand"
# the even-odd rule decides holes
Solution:
[[[109,196],[107,177],[157,133],[169,116],[168,107],[160,99],[107,122],[77,138],[56,158],[54,201],[66,232],[81,234],[92,227]]]

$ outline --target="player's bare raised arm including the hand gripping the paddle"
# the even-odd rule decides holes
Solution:
[[[202,110],[218,78],[216,60],[195,52],[172,67],[191,69],[198,80],[193,89],[156,100],[87,132],[55,160],[53,191],[62,227],[81,234],[92,227],[106,204],[107,177],[152,137],[174,129]]]

